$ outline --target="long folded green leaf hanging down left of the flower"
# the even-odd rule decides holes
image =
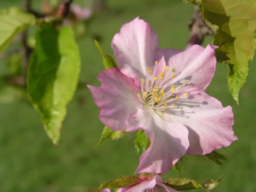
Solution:
[[[43,25],[28,69],[28,93],[54,144],[60,139],[66,106],[73,98],[80,71],[79,50],[70,27],[57,31]]]

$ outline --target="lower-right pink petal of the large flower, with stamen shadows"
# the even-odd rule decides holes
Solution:
[[[175,101],[177,108],[164,113],[169,121],[187,126],[187,154],[208,154],[237,140],[232,130],[234,118],[230,106],[223,108],[220,101],[200,90],[187,92],[187,99]]]

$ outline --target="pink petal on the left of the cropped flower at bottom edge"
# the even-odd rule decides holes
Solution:
[[[155,186],[156,180],[154,178],[150,181],[142,181],[133,186],[120,188],[117,192],[144,192],[146,189],[152,189]]]

